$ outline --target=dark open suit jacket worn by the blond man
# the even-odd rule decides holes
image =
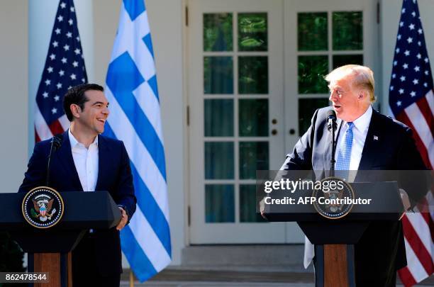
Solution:
[[[330,107],[318,109],[311,127],[286,156],[281,169],[329,171],[331,159],[331,133],[326,115]],[[338,120],[338,130],[341,120]],[[377,139],[374,139],[374,136]],[[416,149],[411,129],[403,123],[372,112],[371,122],[360,159],[360,170],[422,170],[426,169]],[[357,173],[355,181],[366,181]],[[409,193],[411,201],[418,201],[423,190]],[[401,222],[370,223],[360,242],[355,246],[357,276],[377,276],[394,272],[406,266],[404,236]],[[362,275],[361,275],[362,274]]]

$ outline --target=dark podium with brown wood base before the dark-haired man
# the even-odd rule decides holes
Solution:
[[[59,224],[38,229],[23,218],[21,203],[26,193],[0,193],[0,230],[28,252],[29,272],[49,272],[40,287],[72,287],[71,251],[90,229],[109,229],[121,220],[121,212],[107,191],[61,192],[65,212]]]

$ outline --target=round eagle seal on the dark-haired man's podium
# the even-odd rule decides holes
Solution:
[[[62,219],[65,206],[60,194],[53,188],[38,186],[23,198],[21,206],[26,221],[36,228],[49,228]]]

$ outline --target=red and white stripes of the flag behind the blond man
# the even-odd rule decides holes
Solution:
[[[424,98],[408,106],[396,118],[413,129],[416,146],[425,165],[434,167],[434,95],[430,90]],[[434,273],[434,198],[433,188],[421,203],[421,210],[402,218],[406,244],[407,266],[400,269],[404,286],[410,287]],[[422,210],[423,208],[423,210]]]

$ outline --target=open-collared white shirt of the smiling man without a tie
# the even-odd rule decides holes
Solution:
[[[74,159],[75,169],[79,175],[83,191],[95,191],[96,180],[98,179],[98,136],[94,142],[86,148],[78,142],[71,130],[68,130],[69,142],[71,143],[72,158]]]

